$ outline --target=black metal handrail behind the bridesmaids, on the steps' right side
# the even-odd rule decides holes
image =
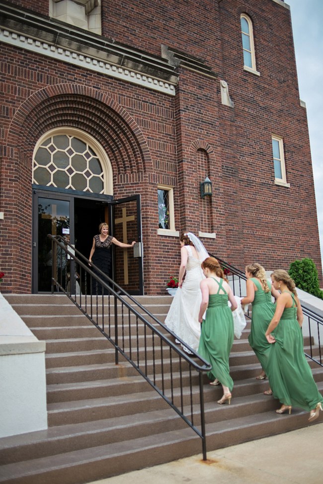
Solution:
[[[230,285],[233,288],[234,294],[240,297],[245,296],[245,294],[242,294],[242,290],[241,290],[242,281],[246,281],[246,276],[244,272],[242,272],[240,269],[237,269],[237,267],[234,267],[233,265],[229,264],[225,260],[222,260],[217,255],[212,255],[212,257],[215,257],[216,259],[218,259],[221,266],[224,269],[227,269],[228,271],[230,271],[230,274],[231,274]],[[237,284],[237,278],[238,278],[238,284]],[[304,351],[305,356],[310,358],[318,365],[323,366],[322,345],[321,345],[321,341],[323,338],[323,316],[319,312],[309,308],[306,304],[301,303],[301,306],[304,314],[304,322],[302,326],[303,335],[304,337],[308,337],[309,346],[310,346],[309,352]]]

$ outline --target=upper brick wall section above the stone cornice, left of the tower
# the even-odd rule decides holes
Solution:
[[[102,1],[102,35],[161,55],[161,44],[218,66],[218,3],[209,1]],[[117,28],[116,28],[117,27]]]

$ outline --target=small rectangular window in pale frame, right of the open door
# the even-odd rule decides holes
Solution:
[[[179,235],[175,232],[173,187],[158,185],[158,217],[160,235]]]

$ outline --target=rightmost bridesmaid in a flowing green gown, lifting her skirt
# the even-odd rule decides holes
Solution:
[[[295,405],[310,410],[309,422],[312,422],[322,410],[323,397],[303,350],[302,307],[288,272],[275,270],[271,280],[274,288],[281,291],[275,314],[265,333],[271,343],[266,371],[273,395],[282,403],[276,412],[288,410],[291,413],[292,405]]]

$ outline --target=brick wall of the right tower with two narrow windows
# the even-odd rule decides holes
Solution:
[[[236,221],[240,230],[227,243],[235,245],[239,235],[244,261],[260,260],[269,268],[288,268],[290,261],[311,254],[321,271],[310,143],[306,110],[299,100],[290,12],[273,1],[244,4],[246,9],[239,1],[219,5],[223,72],[235,102],[232,124],[241,200]],[[242,70],[243,11],[253,22],[260,76]],[[283,137],[290,188],[272,182],[271,134]]]

